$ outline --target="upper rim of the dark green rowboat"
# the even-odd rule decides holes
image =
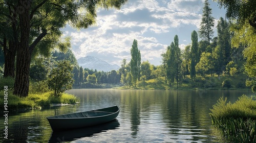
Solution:
[[[109,116],[109,115],[112,115],[112,114],[115,114],[117,112],[120,111],[120,108],[116,105],[116,106],[112,106],[112,107],[117,107],[118,110],[116,112],[113,112],[113,113],[110,113],[110,114],[106,114],[106,115],[101,115],[101,116],[89,116],[89,117],[61,117],[61,118],[56,118],[56,116],[61,116],[61,115],[56,115],[56,116],[48,116],[46,117],[47,119],[50,119],[50,120],[65,120],[65,119],[84,119],[84,118],[95,118],[95,117],[104,117],[104,116]],[[112,108],[112,107],[107,107],[107,108]],[[99,108],[99,109],[105,109],[105,108]],[[89,110],[89,111],[83,111],[83,112],[93,112],[93,111],[97,111],[99,109],[93,109],[93,110]],[[102,111],[104,112],[104,111]],[[68,113],[68,114],[62,114],[62,115],[70,115],[70,114],[76,114],[76,113],[82,113],[82,112],[75,112],[75,113]]]

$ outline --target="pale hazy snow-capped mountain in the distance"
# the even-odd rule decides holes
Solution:
[[[77,62],[79,66],[82,66],[83,68],[97,69],[98,71],[111,71],[113,69],[118,70],[120,68],[120,66],[116,64],[111,65],[108,62],[93,56],[79,58],[77,59]]]

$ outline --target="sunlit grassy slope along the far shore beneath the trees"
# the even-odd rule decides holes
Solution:
[[[225,80],[229,80],[231,87],[229,89],[248,89],[246,87],[246,75],[239,75],[237,77],[232,76],[220,76],[215,75],[205,77],[197,75],[195,82],[190,78],[189,75],[185,76],[182,82],[179,84],[179,89],[223,89],[222,83]],[[121,86],[119,89],[128,89],[127,86]],[[131,87],[132,89],[177,89],[177,82],[169,87],[169,84],[165,82],[165,77],[159,77],[156,79],[147,80],[145,82],[139,81],[137,87]]]

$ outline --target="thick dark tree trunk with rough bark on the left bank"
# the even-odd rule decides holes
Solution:
[[[29,92],[29,67],[31,62],[31,51],[29,48],[31,1],[20,0],[19,5],[23,11],[19,13],[20,43],[17,49],[16,78],[14,83],[14,94],[19,97],[27,97]]]

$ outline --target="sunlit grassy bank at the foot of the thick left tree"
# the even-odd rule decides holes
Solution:
[[[52,96],[52,92],[45,93],[30,93],[28,97],[19,98],[12,94],[12,91],[8,91],[8,110],[27,110],[31,108],[48,108],[52,104],[76,104],[80,101],[79,98],[73,96],[72,94],[63,93],[60,98],[55,98]],[[4,90],[0,91],[0,106],[1,109],[4,108]]]

